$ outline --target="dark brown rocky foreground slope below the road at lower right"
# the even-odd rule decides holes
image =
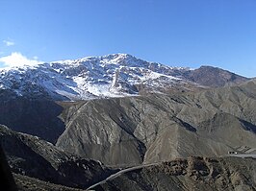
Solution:
[[[93,189],[98,191],[255,190],[255,169],[256,161],[251,158],[189,157],[130,171]]]

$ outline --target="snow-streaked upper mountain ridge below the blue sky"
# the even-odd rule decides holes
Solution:
[[[0,98],[87,100],[188,91],[248,79],[214,67],[169,67],[127,54],[61,60],[0,70]]]

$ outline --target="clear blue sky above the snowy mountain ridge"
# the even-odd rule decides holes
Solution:
[[[0,1],[0,67],[113,53],[256,77],[256,0]]]

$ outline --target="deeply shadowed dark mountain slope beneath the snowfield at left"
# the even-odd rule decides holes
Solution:
[[[64,131],[64,122],[58,117],[62,111],[63,107],[46,99],[0,99],[0,124],[55,143]]]

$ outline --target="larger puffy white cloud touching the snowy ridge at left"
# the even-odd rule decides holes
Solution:
[[[34,57],[34,59],[30,60],[18,52],[13,52],[10,56],[1,57],[0,62],[4,63],[4,67],[37,65],[42,63],[42,61],[38,60],[38,57]]]

